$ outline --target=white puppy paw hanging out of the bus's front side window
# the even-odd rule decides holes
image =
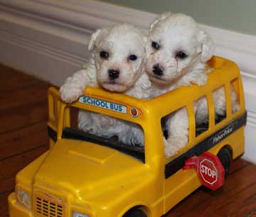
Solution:
[[[186,136],[170,136],[168,140],[164,138],[164,152],[166,157],[172,157],[178,153],[188,143]]]

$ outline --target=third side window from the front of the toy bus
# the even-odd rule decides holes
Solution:
[[[223,121],[227,116],[226,96],[224,85],[213,91],[213,102],[215,111],[215,124]]]

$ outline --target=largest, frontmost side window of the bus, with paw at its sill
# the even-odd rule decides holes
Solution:
[[[163,138],[168,144],[165,152],[168,156],[175,155],[179,149],[188,143],[189,124],[186,106],[161,118],[161,129]]]

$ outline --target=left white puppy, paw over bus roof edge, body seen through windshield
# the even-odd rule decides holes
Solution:
[[[144,71],[145,43],[146,37],[129,24],[97,30],[88,46],[92,58],[80,71],[66,79],[60,87],[61,99],[73,102],[82,96],[87,86],[122,92],[139,99],[149,98],[151,82]],[[99,113],[80,111],[78,127],[106,138],[117,135],[123,143],[144,143],[141,128]]]

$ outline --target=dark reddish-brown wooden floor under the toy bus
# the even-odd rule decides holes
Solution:
[[[8,216],[7,196],[14,191],[15,174],[48,149],[48,87],[0,65],[0,217]],[[223,188],[213,192],[201,187],[165,217],[176,216],[256,216],[256,165],[235,160]]]

